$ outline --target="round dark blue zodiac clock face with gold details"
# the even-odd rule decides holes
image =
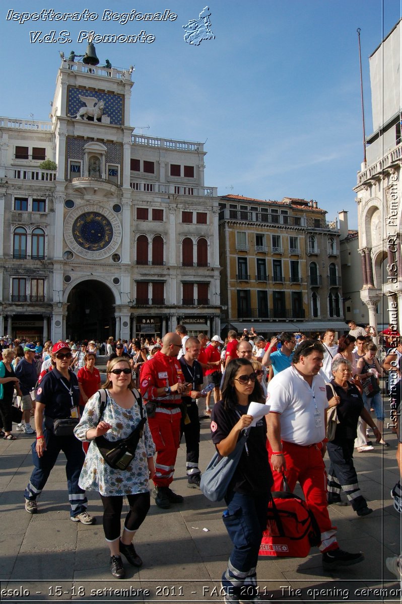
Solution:
[[[107,248],[113,238],[110,220],[98,212],[85,212],[77,216],[72,231],[74,241],[80,248],[90,252]]]

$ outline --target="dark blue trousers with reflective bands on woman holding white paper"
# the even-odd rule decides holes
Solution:
[[[257,585],[256,566],[262,532],[267,528],[269,499],[270,493],[253,497],[233,491],[225,497],[227,510],[222,519],[233,550],[222,574],[222,586],[233,596],[251,596]]]

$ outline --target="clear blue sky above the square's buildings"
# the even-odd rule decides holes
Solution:
[[[206,0],[4,3],[1,99],[6,117],[47,120],[60,65],[58,50],[84,54],[82,30],[153,34],[153,43],[103,43],[103,64],[135,65],[131,124],[137,132],[206,141],[206,185],[258,199],[316,199],[332,220],[349,211],[357,228],[356,173],[363,159],[358,42],[366,133],[372,132],[369,55],[401,17],[398,0],[211,0],[215,39],[184,42],[182,25]],[[82,11],[96,21],[7,21],[7,11]],[[102,21],[103,11],[178,14],[172,22]],[[73,42],[30,43],[30,31],[68,30]],[[141,126],[150,126],[140,130]]]

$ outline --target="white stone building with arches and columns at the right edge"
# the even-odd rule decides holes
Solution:
[[[358,233],[363,288],[369,323],[402,326],[401,262],[401,44],[402,21],[369,57],[372,134],[366,138],[366,162],[357,174]],[[381,298],[384,297],[384,300]],[[381,329],[381,326],[380,326]]]

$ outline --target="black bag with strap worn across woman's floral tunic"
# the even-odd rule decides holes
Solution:
[[[105,393],[105,390],[103,390]],[[105,393],[106,394],[106,393]],[[134,394],[134,392],[133,392]],[[102,400],[102,391],[100,391],[100,396]],[[135,400],[137,397],[135,396]],[[143,428],[146,422],[146,417],[143,416],[143,407],[142,400],[137,400],[138,406],[140,408],[141,419],[135,429],[131,432],[131,434],[125,439],[115,440],[112,442],[111,440],[106,439],[105,436],[97,436],[95,439],[97,448],[99,449],[100,454],[106,463],[115,470],[125,470],[131,463],[134,458],[135,450],[137,449],[137,445],[139,440],[143,435]],[[105,410],[106,400],[101,403],[100,406],[100,416],[99,421],[102,418],[103,411]]]

